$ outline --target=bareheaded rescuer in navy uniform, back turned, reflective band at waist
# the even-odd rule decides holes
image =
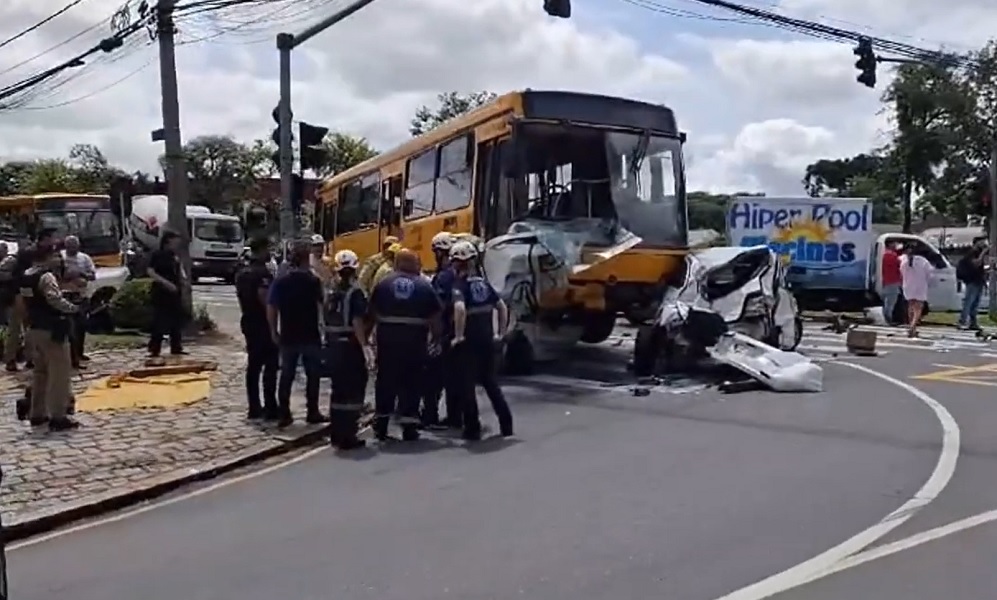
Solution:
[[[395,412],[402,439],[419,439],[419,400],[426,367],[426,340],[439,340],[443,305],[433,286],[422,278],[419,259],[411,251],[395,253],[395,271],[378,282],[370,296],[376,327],[377,379],[374,383],[374,435],[388,439]]]

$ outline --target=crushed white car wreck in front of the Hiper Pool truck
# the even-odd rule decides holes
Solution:
[[[669,288],[655,321],[638,330],[639,376],[693,369],[727,333],[794,350],[803,323],[784,269],[767,246],[709,248],[686,257],[685,278]]]

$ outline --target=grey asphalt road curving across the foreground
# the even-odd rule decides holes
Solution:
[[[621,349],[590,352],[609,363]],[[983,354],[895,347],[861,362],[948,407],[961,439],[948,424],[944,444],[931,398],[833,363],[826,391],[809,395],[517,381],[514,442],[323,452],[17,549],[11,597],[727,598],[860,532],[897,542],[997,508],[993,390],[910,379],[936,363],[997,362]],[[776,597],[992,598],[995,533],[976,527]],[[835,564],[730,598],[768,597]]]

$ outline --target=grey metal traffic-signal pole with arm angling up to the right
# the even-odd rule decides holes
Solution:
[[[374,0],[357,0],[298,35],[277,34],[277,50],[280,52],[280,104],[277,110],[277,122],[280,127],[280,233],[283,240],[295,239],[301,235],[300,220],[294,214],[291,205],[291,178],[294,175],[294,148],[291,136],[291,51],[373,2]]]

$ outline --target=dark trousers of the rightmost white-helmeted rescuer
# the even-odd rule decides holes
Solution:
[[[481,386],[498,417],[503,435],[512,435],[512,411],[498,384],[495,347],[491,343],[464,342],[454,348],[455,370],[461,376],[461,396],[464,402],[464,431],[481,433],[481,417],[475,388]]]

